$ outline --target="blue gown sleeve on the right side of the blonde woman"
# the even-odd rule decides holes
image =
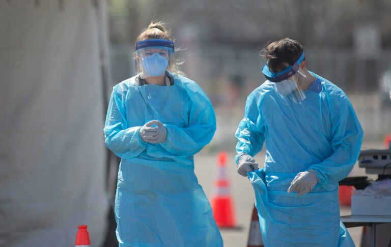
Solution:
[[[213,138],[216,131],[216,117],[208,97],[198,85],[187,88],[189,95],[188,126],[164,124],[166,140],[161,146],[175,155],[192,156],[199,152]]]

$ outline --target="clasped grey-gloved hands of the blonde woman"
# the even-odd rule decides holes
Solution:
[[[151,127],[153,125],[156,125],[156,127]],[[152,120],[141,127],[138,131],[138,135],[145,142],[161,143],[165,141],[167,130],[160,121]]]

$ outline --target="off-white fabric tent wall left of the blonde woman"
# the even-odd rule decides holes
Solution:
[[[0,246],[107,227],[104,0],[0,1]]]

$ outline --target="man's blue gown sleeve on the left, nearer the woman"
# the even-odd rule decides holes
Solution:
[[[235,157],[238,163],[239,156],[243,153],[254,157],[261,151],[265,141],[265,124],[259,103],[254,92],[250,94],[246,100],[244,108],[244,118],[239,122],[235,137],[238,140],[236,145],[237,156]]]

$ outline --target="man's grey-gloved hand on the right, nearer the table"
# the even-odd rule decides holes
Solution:
[[[288,188],[288,193],[295,191],[297,192],[297,196],[304,195],[312,191],[317,183],[318,177],[314,170],[310,169],[308,171],[299,172],[291,182],[291,186]]]

